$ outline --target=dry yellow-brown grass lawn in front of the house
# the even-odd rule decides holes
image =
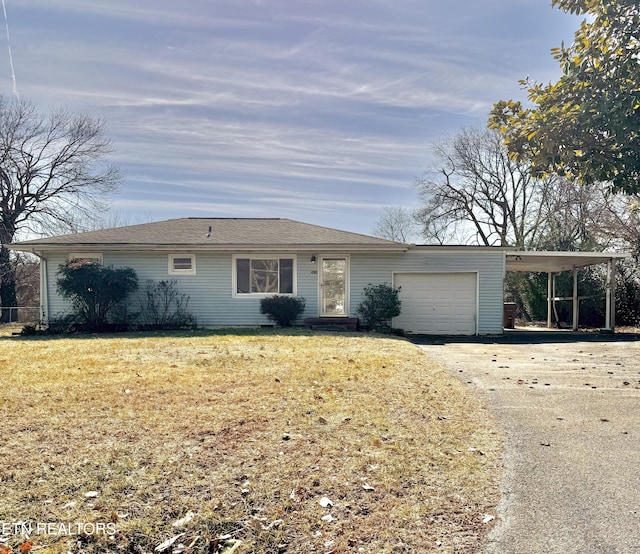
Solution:
[[[399,339],[5,336],[0,410],[0,553],[471,553],[498,500],[494,421]]]

